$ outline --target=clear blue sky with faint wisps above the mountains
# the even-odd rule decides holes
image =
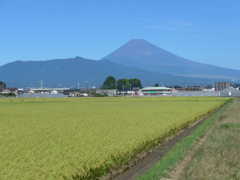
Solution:
[[[145,39],[196,62],[240,70],[239,0],[0,0],[0,65],[98,60]]]

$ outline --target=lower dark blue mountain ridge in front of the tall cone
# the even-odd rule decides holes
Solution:
[[[81,87],[101,86],[107,76],[138,78],[143,85],[206,84],[208,79],[178,77],[127,67],[109,61],[94,61],[81,57],[48,61],[15,61],[0,66],[0,79],[8,87]]]

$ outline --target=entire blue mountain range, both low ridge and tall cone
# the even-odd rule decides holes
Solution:
[[[144,86],[206,85],[239,79],[240,71],[196,63],[145,40],[131,40],[101,60],[81,57],[46,61],[15,61],[0,66],[0,80],[8,87],[101,86],[108,76],[137,78]],[[194,78],[199,76],[199,78]],[[207,78],[205,78],[207,77]]]

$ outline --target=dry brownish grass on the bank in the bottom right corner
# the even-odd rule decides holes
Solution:
[[[240,100],[223,112],[179,179],[240,179]]]

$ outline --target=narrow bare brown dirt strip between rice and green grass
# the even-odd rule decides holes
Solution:
[[[222,107],[221,107],[222,108]],[[192,126],[187,129],[177,132],[173,137],[170,137],[170,140],[167,141],[164,145],[160,145],[159,148],[155,149],[153,153],[149,154],[142,160],[139,160],[133,167],[126,169],[124,172],[113,178],[113,180],[134,180],[140,175],[142,175],[146,170],[153,166],[156,162],[161,160],[161,158],[182,138],[191,134],[199,125],[201,125],[207,118],[212,116],[214,113],[217,113],[221,108],[214,111],[213,113],[207,115],[203,119],[193,123]]]

